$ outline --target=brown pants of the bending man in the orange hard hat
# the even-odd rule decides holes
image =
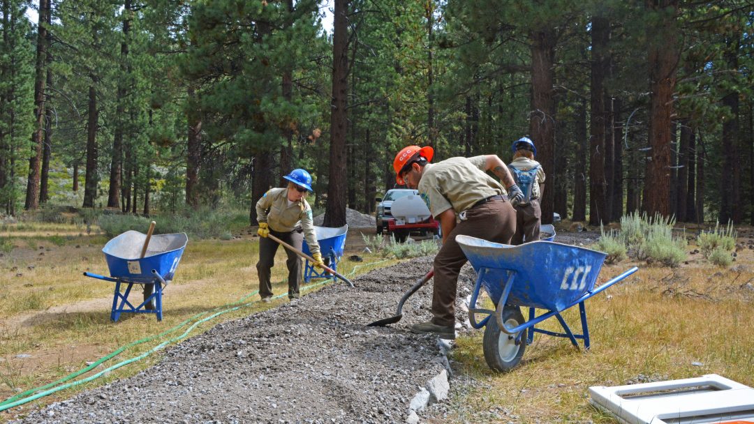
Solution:
[[[516,211],[507,200],[492,200],[466,211],[466,220],[453,228],[443,247],[434,258],[434,291],[432,294],[432,322],[455,325],[455,295],[458,274],[467,259],[455,236],[464,235],[495,243],[510,243],[516,230]]]

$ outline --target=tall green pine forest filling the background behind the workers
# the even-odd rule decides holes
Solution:
[[[27,10],[38,12],[38,22]],[[333,32],[323,29],[323,10]],[[531,137],[543,223],[754,224],[745,0],[2,0],[0,214],[191,214],[314,176],[374,212],[405,145]]]

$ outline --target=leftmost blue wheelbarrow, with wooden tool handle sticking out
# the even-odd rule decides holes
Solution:
[[[176,273],[189,237],[185,233],[151,236],[126,231],[111,239],[102,251],[110,276],[84,273],[85,276],[115,282],[110,319],[117,322],[121,313],[155,313],[162,321],[162,291]],[[150,238],[151,237],[151,238]],[[144,249],[146,248],[146,249]],[[134,284],[144,285],[144,301],[134,307],[128,294]],[[121,285],[126,289],[121,293]]]

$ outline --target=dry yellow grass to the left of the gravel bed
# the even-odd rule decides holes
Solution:
[[[87,361],[97,361],[121,346],[160,334],[198,313],[204,315],[195,317],[189,324],[171,334],[127,349],[92,372],[102,371],[103,368],[176,337],[192,322],[215,313],[224,305],[234,304],[239,300],[251,302],[239,310],[224,313],[198,325],[190,335],[207,331],[219,322],[287,302],[287,298],[274,300],[271,304],[256,301],[259,300],[256,295],[259,283],[255,267],[259,243],[256,239],[190,240],[176,272],[176,279],[165,288],[163,321],[158,322],[153,314],[124,313],[117,323],[113,323],[109,319],[113,284],[82,275],[86,270],[107,273],[101,252],[106,243],[103,236],[76,236],[64,246],[57,246],[44,237],[35,237],[33,243],[29,243],[26,238],[11,238],[11,242],[15,246],[12,252],[0,258],[2,399],[65,377],[84,368]],[[40,256],[40,253],[44,255]],[[373,268],[363,264],[382,261],[382,258],[375,255],[363,258],[364,262],[360,264],[342,261],[339,272],[348,275],[354,273],[354,267],[361,265],[356,273],[363,273]],[[285,252],[280,248],[272,273],[276,294],[287,293],[287,270],[284,263]],[[18,273],[22,275],[17,276]],[[314,285],[320,286],[316,283]],[[135,286],[134,289],[136,287],[140,288]],[[302,292],[306,294],[307,291],[304,288]],[[136,297],[140,297],[140,291],[136,293]],[[17,358],[20,354],[32,356]],[[151,355],[145,360],[118,368],[96,382],[42,398],[37,405],[67,398],[72,393],[93,385],[136,374],[158,361],[159,356]],[[11,409],[11,413],[18,413],[24,407]],[[5,419],[9,416],[10,414],[6,415]],[[0,415],[0,421],[2,420],[4,418]]]

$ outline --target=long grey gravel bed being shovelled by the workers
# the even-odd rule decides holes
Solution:
[[[165,352],[134,377],[81,392],[17,422],[418,422],[442,413],[448,360],[437,337],[412,334],[429,319],[431,282],[403,292],[431,270],[418,258],[328,285],[294,304],[217,325]],[[473,271],[459,281],[461,304]],[[460,305],[459,305],[460,306]],[[465,318],[464,308],[457,310]],[[445,386],[437,394],[435,389]]]

